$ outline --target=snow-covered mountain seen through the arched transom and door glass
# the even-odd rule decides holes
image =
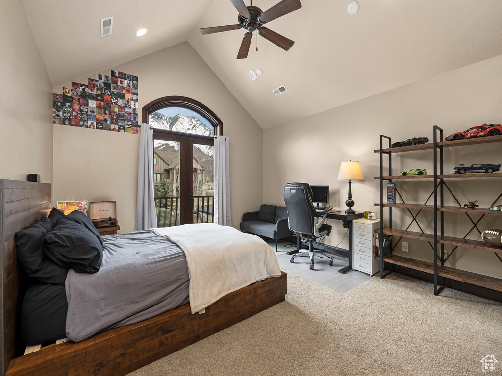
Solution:
[[[154,112],[149,117],[149,124],[155,128],[172,130],[175,132],[184,132],[184,133],[195,133],[202,134],[205,136],[212,136],[213,131],[209,129],[204,123],[202,123],[197,117],[186,115],[180,112],[174,116],[166,116],[160,112]],[[175,147],[175,149],[179,148],[178,142],[170,142],[170,141],[157,141],[155,147],[158,147],[160,144],[169,144]],[[197,145],[197,148],[202,150],[202,152],[212,158],[213,156],[213,147],[207,145]]]

